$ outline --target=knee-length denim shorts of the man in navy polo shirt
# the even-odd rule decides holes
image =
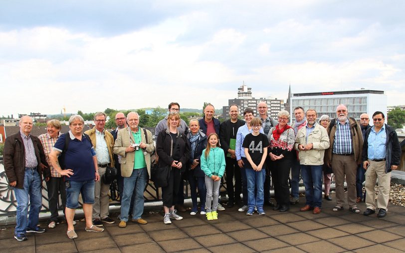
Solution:
[[[67,181],[66,181],[67,182]],[[70,187],[66,188],[66,207],[75,209],[79,207],[79,194],[82,194],[83,204],[94,203],[94,180],[69,181]]]

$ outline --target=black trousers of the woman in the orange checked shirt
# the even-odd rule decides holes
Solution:
[[[51,213],[49,222],[58,222],[59,194],[62,200],[63,213],[65,213],[66,206],[66,191],[63,177],[50,177],[49,181],[46,182],[46,187],[48,188],[48,204]]]

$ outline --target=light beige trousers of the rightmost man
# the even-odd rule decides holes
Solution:
[[[391,172],[386,173],[386,161],[376,162],[368,160],[369,168],[366,170],[366,206],[376,210],[376,179],[378,178],[378,208],[387,210],[390,199]]]

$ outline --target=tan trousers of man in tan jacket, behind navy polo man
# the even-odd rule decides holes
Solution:
[[[94,182],[94,204],[93,204],[93,220],[104,219],[109,215],[110,198],[108,191],[110,190],[109,184],[104,184],[101,177],[105,174],[107,168],[98,168],[100,180]]]

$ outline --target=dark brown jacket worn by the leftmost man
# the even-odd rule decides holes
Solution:
[[[36,156],[36,161],[38,162],[38,174],[41,177],[42,173],[44,177],[50,177],[49,164],[46,162],[45,153],[43,151],[43,146],[38,137],[30,135],[32,144],[34,145],[34,152]],[[20,131],[15,134],[8,136],[4,143],[4,170],[7,175],[8,182],[17,181],[16,188],[22,189],[24,183],[25,175],[25,147],[22,142]],[[39,164],[42,163],[46,168],[41,170]]]

